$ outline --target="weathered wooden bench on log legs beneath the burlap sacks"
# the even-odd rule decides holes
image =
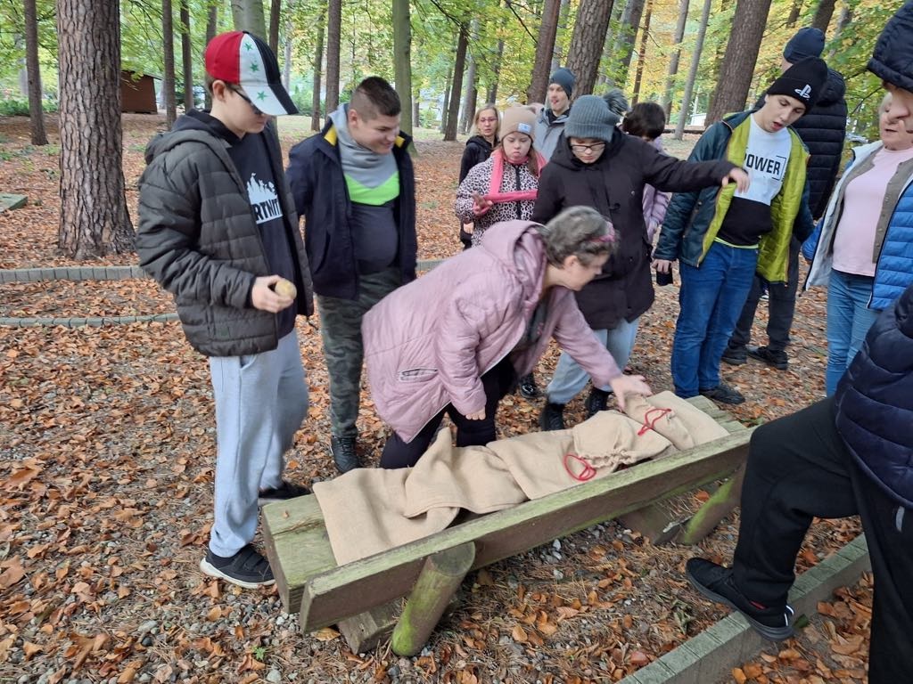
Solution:
[[[389,633],[398,599],[410,595],[394,629],[393,648],[399,655],[414,655],[471,570],[625,514],[652,512],[646,517],[655,518],[658,503],[740,469],[751,430],[708,399],[689,400],[729,435],[345,565],[336,564],[316,497],[268,504],[264,535],[283,606],[300,613],[303,631],[339,625],[358,653],[376,643],[384,629]],[[732,478],[704,504],[696,525],[677,523],[678,534],[695,543],[738,503],[739,493],[740,477]]]

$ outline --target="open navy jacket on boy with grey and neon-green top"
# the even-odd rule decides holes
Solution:
[[[400,193],[394,204],[399,229],[399,262],[403,283],[415,280],[418,241],[415,236],[415,173],[409,156],[412,138],[400,132],[393,155],[399,168]],[[357,299],[358,264],[352,244],[352,202],[342,174],[336,129],[327,119],[320,134],[302,140],[289,151],[286,170],[292,197],[304,217],[304,246],[310,261],[314,292],[340,299]]]

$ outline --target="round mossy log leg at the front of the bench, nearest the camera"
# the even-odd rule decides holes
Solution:
[[[390,641],[397,656],[415,656],[437,626],[473,561],[476,544],[467,542],[429,555],[406,601]]]

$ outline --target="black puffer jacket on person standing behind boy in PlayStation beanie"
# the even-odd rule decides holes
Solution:
[[[827,83],[817,103],[802,118],[792,124],[811,158],[805,178],[808,181],[808,208],[817,221],[827,210],[840,161],[844,153],[846,137],[846,85],[844,77],[834,69],[827,69]],[[754,109],[764,106],[764,96],[755,103]]]

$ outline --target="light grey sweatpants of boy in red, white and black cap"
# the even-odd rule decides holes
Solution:
[[[215,396],[215,522],[209,548],[234,555],[257,532],[257,493],[278,487],[283,455],[308,414],[308,385],[292,330],[272,351],[210,357]]]

